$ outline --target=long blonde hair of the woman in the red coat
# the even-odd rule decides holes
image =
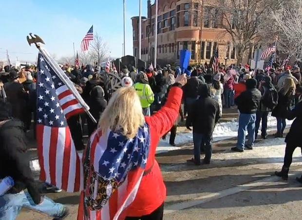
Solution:
[[[108,103],[98,122],[98,127],[106,132],[120,132],[127,138],[134,138],[145,122],[139,97],[132,87],[118,89]]]

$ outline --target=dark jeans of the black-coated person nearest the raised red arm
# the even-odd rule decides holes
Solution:
[[[194,143],[194,160],[197,164],[200,164],[200,148],[201,143],[205,143],[205,160],[209,162],[212,157],[212,138],[204,134],[198,134],[193,132],[193,143]]]

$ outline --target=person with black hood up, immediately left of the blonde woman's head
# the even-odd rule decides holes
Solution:
[[[97,123],[101,117],[102,112],[107,106],[107,101],[104,98],[104,90],[101,86],[97,85],[91,90],[90,101],[88,102],[88,105],[90,107],[90,113],[96,120],[96,123],[94,123],[89,117],[87,117],[88,135],[91,136],[97,128]]]

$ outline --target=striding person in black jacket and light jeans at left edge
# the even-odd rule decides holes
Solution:
[[[26,154],[23,123],[13,119],[8,102],[0,100],[0,179],[11,177],[15,184],[0,196],[0,219],[16,219],[22,207],[62,219],[67,208],[48,197],[41,197]],[[27,189],[24,192],[24,189]]]

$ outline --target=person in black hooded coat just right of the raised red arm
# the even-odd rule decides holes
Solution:
[[[204,164],[209,164],[212,156],[212,133],[220,118],[220,108],[216,100],[210,97],[211,87],[204,84],[200,88],[200,98],[192,104],[186,121],[186,126],[190,130],[193,125],[194,158],[188,160],[196,165],[200,165],[200,146],[205,143]]]

